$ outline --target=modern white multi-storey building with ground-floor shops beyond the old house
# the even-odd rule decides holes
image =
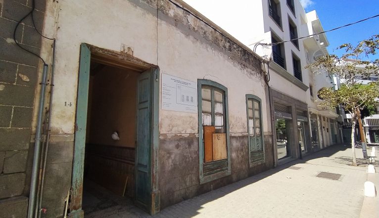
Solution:
[[[306,13],[299,0],[236,0],[217,5],[200,0],[186,2],[270,60],[267,73],[276,164],[337,143],[338,115],[315,103],[320,101],[317,91],[333,85],[332,77],[327,72],[315,75],[304,68],[318,56],[328,54],[326,34],[317,34],[324,29],[316,11]]]

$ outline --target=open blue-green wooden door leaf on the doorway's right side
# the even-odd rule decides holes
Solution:
[[[136,204],[159,212],[158,191],[159,70],[150,68],[137,79]],[[155,152],[155,153],[154,153]]]

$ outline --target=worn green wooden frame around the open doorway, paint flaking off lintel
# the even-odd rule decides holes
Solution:
[[[153,68],[153,103],[152,103],[152,146],[151,146],[151,205],[150,214],[160,210],[160,192],[158,189],[158,148],[159,148],[159,67],[147,63],[132,55],[98,48],[86,43],[80,46],[80,62],[78,73],[78,91],[75,116],[75,140],[71,178],[70,218],[83,218],[83,173],[85,155],[85,134],[87,125],[88,88],[90,80],[91,61],[110,66],[142,72]],[[81,112],[82,111],[82,112]],[[83,138],[84,134],[84,138]],[[84,140],[84,141],[83,141]]]

